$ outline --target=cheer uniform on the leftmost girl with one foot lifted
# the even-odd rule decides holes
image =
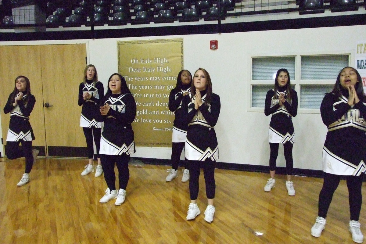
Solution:
[[[10,113],[10,123],[8,129],[7,142],[29,142],[34,139],[33,129],[29,123],[29,115],[34,108],[36,98],[30,94],[28,101],[27,94],[23,95],[22,100],[17,101],[17,105],[14,107],[14,99],[12,94],[9,95],[8,101],[4,107],[4,113]]]

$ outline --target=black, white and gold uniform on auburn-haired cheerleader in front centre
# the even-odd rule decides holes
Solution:
[[[198,110],[194,108],[193,97],[183,98],[182,106],[188,108],[186,120],[189,121],[184,152],[188,160],[205,161],[210,159],[216,161],[219,158],[219,146],[213,127],[219,119],[220,97],[212,93],[210,104],[205,105],[206,90],[201,91],[201,96],[203,104]]]

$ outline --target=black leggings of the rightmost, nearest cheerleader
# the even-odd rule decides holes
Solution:
[[[363,176],[363,173],[360,176],[346,176],[351,220],[355,221],[358,221],[360,217]],[[332,202],[333,193],[337,189],[340,179],[340,175],[324,173],[323,187],[319,194],[318,216],[326,218],[330,202]]]

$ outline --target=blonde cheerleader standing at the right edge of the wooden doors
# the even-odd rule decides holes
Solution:
[[[87,157],[89,158],[89,164],[87,164],[81,172],[82,176],[94,172],[94,143],[97,149],[98,165],[96,166],[95,177],[101,176],[103,173],[100,156],[100,134],[102,130],[102,123],[96,121],[96,116],[99,113],[99,102],[104,97],[104,87],[102,82],[98,81],[97,69],[93,64],[89,64],[85,67],[83,82],[79,85],[79,106],[83,106],[80,116],[80,127],[83,127],[83,132],[86,139]]]

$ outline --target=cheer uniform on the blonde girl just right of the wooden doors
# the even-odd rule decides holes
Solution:
[[[91,98],[88,100],[83,99],[83,93],[89,92]],[[80,116],[80,127],[95,127],[102,128],[102,123],[96,121],[97,113],[99,113],[99,102],[104,97],[103,83],[97,81],[93,86],[93,80],[86,80],[86,83],[80,83],[79,85],[79,106],[83,106]]]

